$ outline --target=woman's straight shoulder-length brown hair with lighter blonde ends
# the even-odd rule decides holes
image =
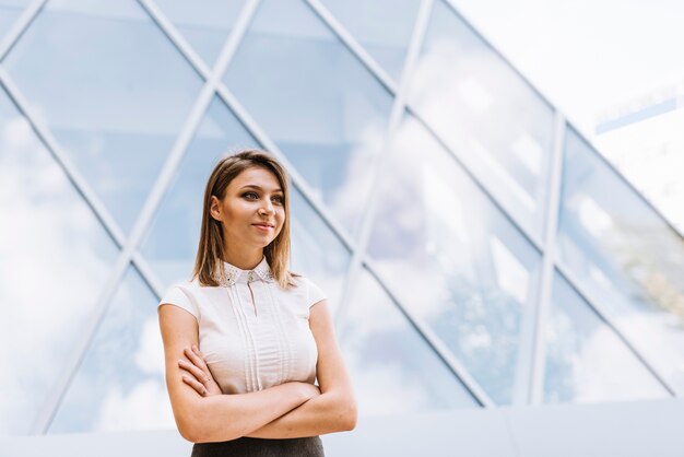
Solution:
[[[288,177],[283,165],[272,155],[259,150],[245,150],[227,155],[219,161],[207,181],[202,208],[202,227],[200,244],[197,248],[192,279],[198,279],[202,285],[216,286],[224,276],[223,249],[225,239],[221,222],[211,216],[211,198],[223,200],[226,188],[237,175],[247,168],[261,167],[273,173],[283,190],[283,206],[285,221],[280,233],[267,247],[263,248],[271,274],[283,289],[294,285],[293,276],[287,269],[290,261],[290,189]]]

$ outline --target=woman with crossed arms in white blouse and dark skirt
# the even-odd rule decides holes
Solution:
[[[318,435],[356,424],[328,303],[287,270],[288,210],[287,176],[261,151],[221,160],[207,183],[192,280],[158,307],[192,456],[322,456]]]

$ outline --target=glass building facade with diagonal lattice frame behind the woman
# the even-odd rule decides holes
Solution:
[[[205,179],[293,179],[362,414],[684,396],[684,239],[447,1],[0,0],[0,434],[172,429]]]

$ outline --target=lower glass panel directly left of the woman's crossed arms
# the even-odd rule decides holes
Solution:
[[[175,427],[156,305],[129,267],[48,433]]]

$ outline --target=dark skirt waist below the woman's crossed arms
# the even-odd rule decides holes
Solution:
[[[325,457],[318,436],[263,440],[241,437],[222,443],[196,443],[191,457]]]

